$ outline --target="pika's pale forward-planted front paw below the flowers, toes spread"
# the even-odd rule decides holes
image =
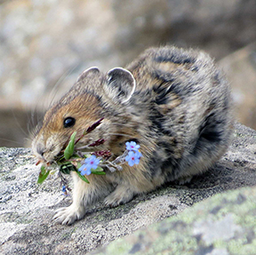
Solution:
[[[77,209],[72,204],[68,207],[62,207],[55,212],[53,220],[62,225],[71,225],[77,219],[82,219],[85,214],[84,210],[81,210],[81,208]]]

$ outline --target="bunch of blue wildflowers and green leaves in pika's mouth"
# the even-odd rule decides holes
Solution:
[[[68,180],[63,177],[62,173],[69,174],[70,171],[76,171],[77,175],[83,179],[85,182],[89,183],[89,180],[85,177],[90,174],[98,174],[104,175],[106,174],[105,170],[109,171],[122,171],[122,164],[128,163],[130,166],[134,164],[140,163],[141,153],[140,153],[140,145],[138,145],[135,141],[127,141],[125,143],[126,150],[123,155],[116,157],[114,161],[109,161],[108,159],[111,157],[111,151],[109,150],[101,150],[94,151],[92,153],[83,153],[81,149],[87,147],[97,147],[105,142],[105,139],[98,139],[94,141],[92,144],[89,144],[84,147],[79,147],[75,149],[76,143],[84,137],[84,135],[93,131],[98,125],[101,124],[101,118],[96,123],[92,124],[84,134],[76,139],[76,131],[71,135],[68,146],[64,149],[63,155],[60,155],[56,160],[56,163],[59,165],[59,177],[60,177],[60,185],[62,186],[63,195],[68,195]],[[40,162],[37,162],[40,163]],[[36,163],[36,164],[37,164]],[[39,177],[37,182],[42,183],[44,179],[49,175],[50,169],[47,169],[42,165],[41,171],[39,173]]]

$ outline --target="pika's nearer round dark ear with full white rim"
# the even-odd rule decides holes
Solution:
[[[136,81],[132,73],[124,68],[113,68],[108,71],[104,90],[108,97],[119,103],[131,99],[135,91]]]

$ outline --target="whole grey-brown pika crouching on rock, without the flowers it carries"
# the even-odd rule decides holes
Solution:
[[[150,48],[126,68],[107,74],[86,69],[59,102],[48,109],[32,142],[38,160],[54,162],[70,135],[77,137],[104,118],[76,146],[106,139],[100,149],[122,155],[136,141],[140,163],[123,171],[90,175],[90,184],[72,172],[73,203],[54,218],[82,219],[99,199],[116,206],[166,182],[190,181],[226,152],[233,127],[228,81],[208,54],[172,46]],[[97,148],[99,150],[99,148]]]

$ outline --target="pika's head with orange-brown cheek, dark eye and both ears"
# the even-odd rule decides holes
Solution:
[[[109,132],[113,132],[111,113],[118,115],[129,104],[135,87],[132,73],[124,68],[113,68],[107,75],[98,68],[85,70],[69,92],[47,110],[32,142],[36,158],[52,163],[74,131],[79,139],[100,118],[104,118],[102,124],[80,139],[77,146],[106,139],[104,146],[108,147]]]

